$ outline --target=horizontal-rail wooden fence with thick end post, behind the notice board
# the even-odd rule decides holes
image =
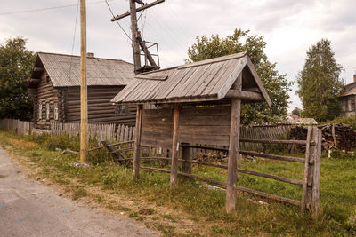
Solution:
[[[300,207],[303,211],[305,209],[311,210],[312,214],[316,217],[319,214],[320,206],[319,206],[319,195],[320,195],[320,161],[321,161],[321,131],[317,127],[308,127],[308,134],[306,140],[281,140],[281,139],[256,139],[256,138],[241,138],[240,143],[255,143],[255,144],[285,144],[285,145],[298,145],[298,146],[306,146],[305,149],[305,158],[299,157],[292,157],[292,156],[285,156],[285,155],[277,155],[277,154],[266,154],[260,153],[255,151],[248,151],[241,149],[239,150],[239,154],[243,155],[251,155],[255,157],[262,157],[264,159],[271,159],[271,160],[279,160],[283,162],[298,162],[303,163],[303,180],[296,180],[291,178],[279,177],[274,174],[267,174],[259,171],[254,170],[245,170],[240,169],[238,167],[238,173],[243,173],[247,175],[263,177],[263,178],[271,178],[274,180],[278,180],[280,182],[284,182],[291,185],[302,186],[303,194],[300,200],[293,200],[289,199],[277,194],[268,194],[264,193],[259,190],[255,190],[252,188],[244,187],[244,186],[237,186],[237,189],[240,192],[254,194],[257,196],[262,196],[263,198],[286,202],[295,206]],[[212,178],[200,177],[198,175],[192,174],[191,166],[192,164],[198,165],[206,165],[206,166],[213,166],[222,169],[228,169],[226,164],[222,162],[202,162],[199,160],[194,159],[194,156],[191,155],[192,148],[200,148],[204,150],[213,150],[213,151],[223,151],[228,152],[229,149],[227,148],[217,148],[212,146],[195,146],[190,144],[181,144],[181,159],[178,159],[178,162],[181,162],[182,171],[177,172],[178,175],[183,177],[189,178],[196,178],[202,180],[204,182],[212,183],[217,186],[226,187],[227,183],[223,181],[218,181]],[[126,160],[132,160],[126,159]],[[147,161],[170,161],[170,158],[166,157],[158,157],[158,156],[151,156],[140,157],[142,162]],[[160,169],[157,167],[148,167],[144,166],[143,163],[140,165],[141,170],[150,170],[150,171],[157,171],[157,172],[164,172],[164,173],[171,173],[172,170]]]

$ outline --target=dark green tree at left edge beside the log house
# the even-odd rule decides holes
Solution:
[[[26,43],[16,37],[0,45],[0,118],[29,120],[32,116],[27,88],[36,57]]]

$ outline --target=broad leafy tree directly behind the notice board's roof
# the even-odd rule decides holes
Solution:
[[[187,62],[213,59],[224,55],[247,51],[263,86],[271,98],[271,108],[266,103],[244,104],[241,122],[278,122],[287,115],[288,91],[291,83],[287,75],[279,75],[276,63],[271,63],[264,52],[266,43],[262,36],[250,36],[249,30],[235,29],[231,36],[197,36],[197,42],[188,49]]]

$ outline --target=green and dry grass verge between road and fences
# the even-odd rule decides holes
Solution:
[[[59,139],[60,140],[60,139]],[[352,156],[323,158],[321,163],[320,206],[321,217],[312,220],[310,215],[301,215],[300,209],[274,201],[266,201],[251,195],[238,195],[237,211],[226,214],[225,193],[209,189],[205,184],[186,178],[178,179],[176,190],[169,189],[169,175],[140,171],[141,178],[132,178],[131,165],[113,165],[111,162],[93,162],[88,168],[69,165],[77,157],[60,155],[49,150],[34,138],[25,138],[0,131],[0,145],[21,154],[41,167],[40,175],[66,186],[73,199],[92,197],[107,208],[129,212],[129,217],[145,224],[150,220],[153,227],[166,236],[350,236],[356,234],[356,225],[349,217],[356,216],[356,160]],[[105,160],[104,160],[105,161]],[[109,160],[108,160],[109,161]],[[287,178],[302,179],[303,164],[257,159],[255,162],[241,161],[239,166],[247,170],[258,170]],[[226,170],[194,166],[194,174],[225,181]],[[70,180],[77,180],[72,184]],[[239,174],[239,186],[247,186],[300,200],[300,186],[283,184],[268,178]],[[133,201],[127,206],[109,201],[106,197],[91,193],[91,187],[101,187],[104,192],[125,194]],[[252,200],[266,201],[268,205],[255,204]],[[155,214],[142,216],[135,203],[150,203]],[[170,209],[171,213],[161,213]],[[156,213],[157,211],[157,213]],[[174,213],[176,212],[176,214]],[[185,221],[185,222],[184,222]],[[189,229],[182,230],[190,223]],[[182,224],[183,223],[183,224]]]

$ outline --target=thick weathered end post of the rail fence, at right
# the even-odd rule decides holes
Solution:
[[[311,143],[314,146],[311,146]],[[320,212],[320,162],[321,162],[321,131],[316,127],[308,127],[305,151],[305,167],[303,178],[302,210],[309,209],[317,218]]]

